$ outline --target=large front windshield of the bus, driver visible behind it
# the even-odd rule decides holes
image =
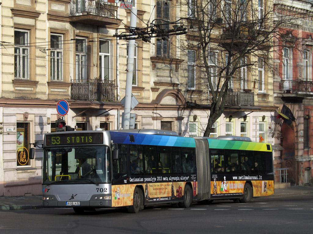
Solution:
[[[45,149],[43,183],[108,183],[107,146],[68,146]]]

